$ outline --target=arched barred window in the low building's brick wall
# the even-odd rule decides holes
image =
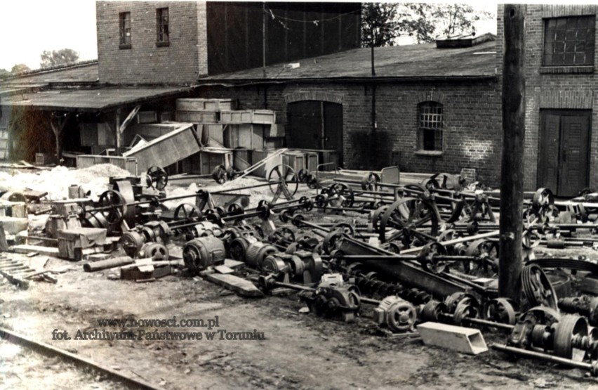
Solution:
[[[442,105],[423,102],[418,105],[418,149],[442,150]]]

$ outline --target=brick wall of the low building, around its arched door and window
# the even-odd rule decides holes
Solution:
[[[279,84],[273,86],[202,87],[201,98],[234,98],[237,109],[268,108],[286,124],[286,99],[319,97],[343,104],[345,168],[380,169],[399,152],[401,171],[459,173],[476,169],[477,179],[498,186],[502,147],[500,90],[486,82],[413,82],[379,84],[376,91],[378,127],[371,132],[371,86],[362,83]],[[266,91],[266,94],[265,94]],[[444,152],[422,155],[417,150],[417,106],[441,100],[444,110]],[[372,165],[368,155],[373,155]]]

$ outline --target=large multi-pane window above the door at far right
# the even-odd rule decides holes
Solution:
[[[544,20],[544,66],[594,65],[596,16]]]

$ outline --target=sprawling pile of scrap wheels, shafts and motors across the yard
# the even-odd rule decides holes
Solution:
[[[27,240],[89,260],[86,271],[118,267],[121,278],[153,280],[176,268],[182,277],[225,285],[241,277],[264,293],[297,290],[317,316],[351,322],[369,311],[383,333],[422,323],[500,330],[505,344],[496,349],[598,376],[598,264],[534,255],[540,247],[596,245],[598,204],[590,195],[557,202],[540,188],[524,202],[526,259],[516,303],[498,295],[500,194],[451,174],[399,185],[371,173],[324,185],[284,165],[275,169],[258,186],[286,200],[253,208],[239,195],[243,187],[168,197],[168,176],[158,167],[145,178],[111,178],[112,189],[95,202],[76,190],[69,200],[29,202],[29,211],[50,216]],[[304,183],[316,194],[293,198]],[[6,196],[25,204],[18,194]],[[164,205],[190,197],[195,202]]]

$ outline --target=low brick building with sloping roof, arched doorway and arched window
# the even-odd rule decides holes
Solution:
[[[500,177],[500,84],[496,41],[359,48],[199,79],[196,96],[234,98],[239,109],[277,112],[291,148],[333,149],[350,169],[437,173],[473,168]],[[295,64],[296,66],[296,64]],[[372,112],[375,115],[372,115]]]

